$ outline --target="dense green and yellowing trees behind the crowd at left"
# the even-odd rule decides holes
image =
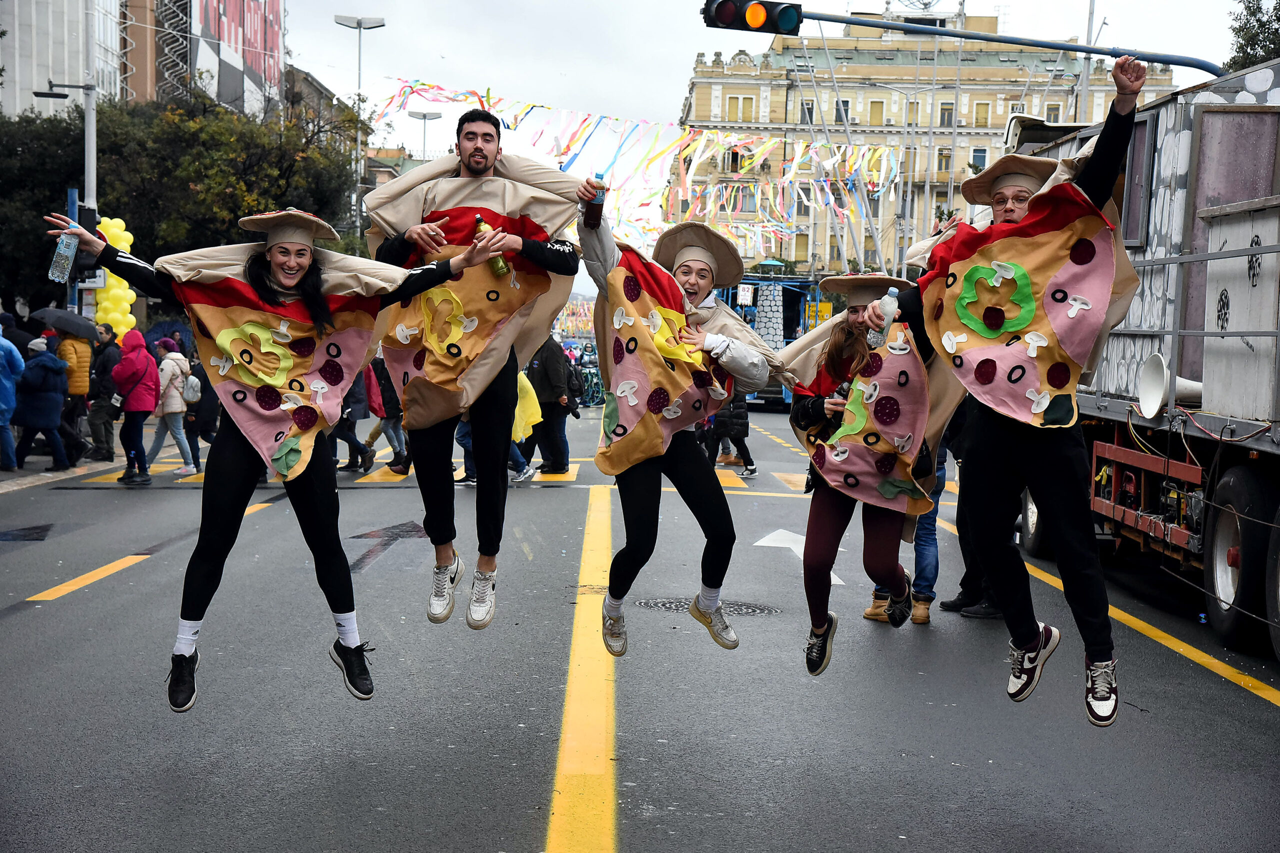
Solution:
[[[52,240],[41,215],[83,183],[83,111],[0,117],[0,295],[61,298],[46,273]],[[251,117],[198,86],[170,102],[105,101],[97,113],[99,213],[123,218],[133,251],[161,255],[244,242],[241,216],[298,207],[348,216],[355,117],[310,110]]]

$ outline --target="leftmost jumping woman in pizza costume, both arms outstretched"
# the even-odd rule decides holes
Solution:
[[[283,480],[315,560],[316,580],[333,611],[338,639],[329,657],[347,689],[372,697],[360,642],[351,569],[338,538],[338,491],[326,435],[343,393],[364,366],[378,313],[412,298],[499,254],[502,232],[416,270],[315,248],[337,240],[324,220],[280,210],[239,220],[266,232],[261,243],[170,255],[155,266],[106,245],[65,216],[51,214],[51,234],[73,233],[81,246],[131,287],[186,310],[200,361],[230,418],[209,450],[200,538],[187,564],[169,678],[169,706],[196,702],[196,640],[221,580],[264,467]]]

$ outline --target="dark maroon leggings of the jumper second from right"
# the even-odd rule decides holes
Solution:
[[[840,540],[849,529],[859,501],[827,485],[814,474],[809,501],[809,526],[804,537],[804,594],[809,602],[809,621],[814,628],[827,624],[831,603],[831,569],[836,565]],[[906,574],[897,561],[906,515],[874,503],[863,503],[863,569],[877,585],[890,593],[906,594]]]

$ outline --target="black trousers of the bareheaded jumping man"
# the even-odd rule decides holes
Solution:
[[[516,420],[516,351],[512,348],[498,375],[467,410],[471,448],[476,466],[476,539],[480,555],[498,556],[502,524],[507,514],[507,459],[511,456],[511,426]],[[422,528],[431,544],[453,542],[453,434],[462,415],[425,429],[406,430],[417,489],[422,493]]]

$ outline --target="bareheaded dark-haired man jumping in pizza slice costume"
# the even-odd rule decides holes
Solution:
[[[497,611],[498,549],[507,507],[507,459],[520,365],[547,341],[577,273],[573,246],[553,237],[577,214],[577,181],[503,156],[502,124],[485,110],[458,119],[457,155],[390,181],[365,197],[378,260],[413,266],[466,251],[477,228],[504,231],[500,263],[470,268],[415,300],[393,305],[381,338],[401,392],[424,519],[435,546],[428,619],[445,622],[465,567],[454,547],[453,435],[470,412],[476,467],[479,560],[467,625]]]

